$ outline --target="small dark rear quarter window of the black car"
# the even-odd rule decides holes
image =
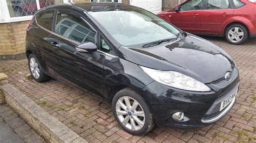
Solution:
[[[40,26],[51,31],[52,21],[53,21],[53,13],[55,10],[49,10],[45,12],[38,13],[36,16],[36,21]]]

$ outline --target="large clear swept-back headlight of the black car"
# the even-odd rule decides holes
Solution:
[[[147,75],[153,78],[153,80],[161,84],[190,91],[211,91],[211,89],[204,83],[177,71],[156,70],[143,66],[139,67],[142,68]]]

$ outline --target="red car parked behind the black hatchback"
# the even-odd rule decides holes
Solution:
[[[256,0],[190,0],[158,16],[181,30],[224,36],[235,45],[256,37]]]

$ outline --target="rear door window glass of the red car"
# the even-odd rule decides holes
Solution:
[[[228,9],[230,3],[228,0],[208,0],[206,9]]]

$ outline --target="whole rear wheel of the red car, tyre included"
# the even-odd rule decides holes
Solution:
[[[244,25],[233,24],[227,27],[225,37],[230,44],[240,45],[248,40],[249,32]]]

